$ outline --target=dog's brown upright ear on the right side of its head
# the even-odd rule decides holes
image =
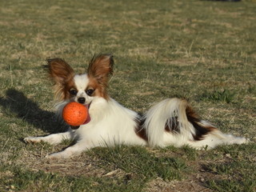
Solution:
[[[98,83],[106,85],[113,74],[114,59],[111,54],[98,54],[91,59],[87,69],[89,78],[96,78]]]

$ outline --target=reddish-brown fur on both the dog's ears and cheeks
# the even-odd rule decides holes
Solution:
[[[55,83],[55,98],[64,100],[72,97],[70,90],[72,88],[76,90],[73,80],[74,70],[62,58],[47,59],[47,62],[49,76]],[[90,83],[86,90],[93,89],[92,96],[110,98],[106,88],[109,77],[113,74],[113,65],[113,56],[110,54],[94,55],[94,58],[91,59],[87,69]]]

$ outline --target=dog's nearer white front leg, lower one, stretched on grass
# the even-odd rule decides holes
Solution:
[[[74,146],[70,146],[66,148],[66,150],[63,150],[61,152],[54,153],[54,154],[49,154],[46,156],[46,158],[49,158],[49,159],[70,158],[71,156],[81,154],[82,151],[89,150],[92,147],[94,146],[89,145],[87,142],[80,141],[74,144]]]

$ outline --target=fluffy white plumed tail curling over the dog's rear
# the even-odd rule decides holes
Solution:
[[[186,118],[186,106],[185,100],[171,98],[158,102],[146,112],[144,127],[150,146],[165,146],[165,132],[189,137],[190,125]]]

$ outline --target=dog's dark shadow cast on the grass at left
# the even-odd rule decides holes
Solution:
[[[26,98],[18,90],[6,90],[6,97],[0,98],[0,105],[3,113],[21,118],[45,132],[57,133],[66,130],[65,123],[54,112],[40,109],[36,102]]]

